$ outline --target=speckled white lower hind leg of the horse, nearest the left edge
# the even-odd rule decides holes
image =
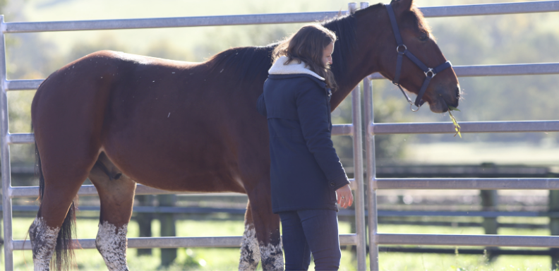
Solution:
[[[35,217],[35,221],[29,228],[35,270],[50,270],[50,260],[56,247],[56,237],[58,237],[59,231],[59,227],[47,226],[42,217]]]

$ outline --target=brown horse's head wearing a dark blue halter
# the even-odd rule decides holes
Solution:
[[[428,102],[432,112],[447,112],[449,106],[458,107],[458,78],[413,2],[392,0],[390,5],[366,8],[356,13],[358,21],[362,17],[356,25],[368,25],[373,34],[365,37],[370,39],[365,43],[375,44],[367,59],[371,71],[419,95],[415,103],[408,99],[411,104],[419,107]],[[372,31],[370,23],[376,25]]]

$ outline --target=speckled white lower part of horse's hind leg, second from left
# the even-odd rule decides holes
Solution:
[[[111,271],[128,270],[128,265],[126,265],[127,231],[128,224],[122,225],[119,229],[107,221],[99,224],[95,246]]]

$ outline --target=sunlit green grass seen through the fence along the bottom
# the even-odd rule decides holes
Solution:
[[[15,218],[14,239],[23,239],[31,224],[30,218]],[[97,221],[78,219],[78,238],[91,239],[97,234]],[[241,221],[200,222],[182,220],[176,224],[179,236],[232,236],[241,235],[244,229]],[[138,224],[131,222],[128,237],[138,236]],[[159,222],[154,221],[152,231],[157,236]],[[469,227],[420,227],[380,225],[383,233],[421,233],[421,234],[483,234],[483,229]],[[349,233],[349,224],[340,222],[340,233]],[[501,229],[500,234],[548,235],[546,229]],[[464,247],[465,248],[465,247]],[[380,253],[381,270],[551,270],[551,260],[547,256],[499,256],[488,263],[483,255],[462,255],[458,248],[455,255],[419,253]],[[239,260],[238,248],[179,248],[177,259],[168,268],[161,268],[160,250],[153,249],[150,256],[136,255],[136,249],[128,250],[128,265],[131,270],[236,270]],[[95,250],[77,250],[76,259],[80,270],[107,270],[99,253]],[[16,270],[32,270],[30,251],[14,253]],[[4,266],[2,265],[2,268]],[[313,270],[311,265],[309,270]],[[340,270],[356,270],[356,262],[349,251],[342,251]]]

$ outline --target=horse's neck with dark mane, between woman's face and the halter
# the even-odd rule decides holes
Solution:
[[[383,20],[386,20],[386,23],[383,23]],[[389,21],[380,12],[380,8],[367,11],[356,18],[355,49],[349,59],[344,59],[344,61],[347,61],[347,68],[341,74],[336,75],[338,89],[332,94],[332,100],[330,100],[332,110],[349,95],[363,78],[380,71],[377,64],[378,52],[381,51],[380,47],[385,44],[376,41],[389,41],[387,39],[390,37],[387,37],[387,34],[392,33],[392,29],[384,29],[390,28],[390,24],[387,23]]]

